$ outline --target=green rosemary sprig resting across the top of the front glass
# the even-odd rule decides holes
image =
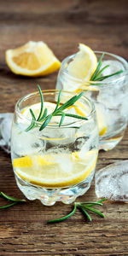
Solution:
[[[41,97],[41,108],[40,108],[40,112],[39,112],[39,115],[38,115],[38,119],[36,119],[36,117],[35,117],[35,115],[32,111],[32,108],[30,108],[30,113],[32,115],[32,123],[31,123],[31,125],[29,125],[26,128],[26,131],[30,131],[34,126],[36,126],[37,125],[36,122],[43,122],[43,124],[40,125],[40,127],[39,127],[39,131],[42,131],[47,125],[49,125],[49,122],[50,122],[50,120],[52,119],[53,116],[61,116],[59,127],[61,127],[62,122],[63,122],[63,120],[66,116],[72,117],[72,118],[75,118],[75,119],[87,120],[87,118],[85,118],[84,116],[64,112],[65,109],[73,106],[73,104],[75,102],[77,102],[81,96],[83,96],[84,92],[79,93],[78,96],[73,96],[70,100],[68,100],[67,102],[62,104],[61,107],[59,107],[60,102],[61,102],[61,90],[60,90],[55,110],[53,111],[53,113],[49,113],[49,115],[47,115],[48,109],[47,108],[44,109],[44,97],[43,97],[43,93],[42,93],[42,90],[40,89],[39,85],[38,85],[38,90],[39,90],[39,94],[40,94],[40,97]],[[79,127],[76,127],[76,126],[71,126],[70,127],[69,126],[67,128],[79,128]]]

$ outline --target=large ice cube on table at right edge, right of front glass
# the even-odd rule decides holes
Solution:
[[[128,201],[128,160],[96,172],[96,195],[113,201]]]

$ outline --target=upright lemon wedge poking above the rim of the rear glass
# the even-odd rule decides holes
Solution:
[[[77,79],[90,80],[95,72],[97,59],[94,51],[85,44],[79,44],[79,52],[67,67],[68,73]]]

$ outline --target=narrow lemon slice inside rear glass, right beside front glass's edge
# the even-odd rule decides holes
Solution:
[[[95,106],[96,107],[96,116],[97,116],[97,125],[98,125],[98,129],[99,129],[99,135],[103,136],[105,135],[108,126],[106,123],[106,119],[105,116],[102,112],[102,107],[100,108],[99,106]]]

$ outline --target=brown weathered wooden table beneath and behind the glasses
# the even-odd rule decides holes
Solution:
[[[0,112],[13,112],[15,102],[36,90],[55,88],[57,73],[39,79],[16,76],[5,62],[5,50],[29,40],[43,40],[62,60],[78,50],[79,42],[128,59],[127,0],[1,0]],[[128,158],[128,130],[119,145],[100,152],[96,169]],[[17,197],[10,155],[0,150],[0,190]],[[94,182],[80,201],[96,201]],[[1,204],[3,201],[1,199]],[[46,224],[71,211],[70,205],[44,207],[27,201],[0,211],[0,255],[128,255],[127,204],[106,204],[106,218],[86,222],[80,212],[61,224]]]

